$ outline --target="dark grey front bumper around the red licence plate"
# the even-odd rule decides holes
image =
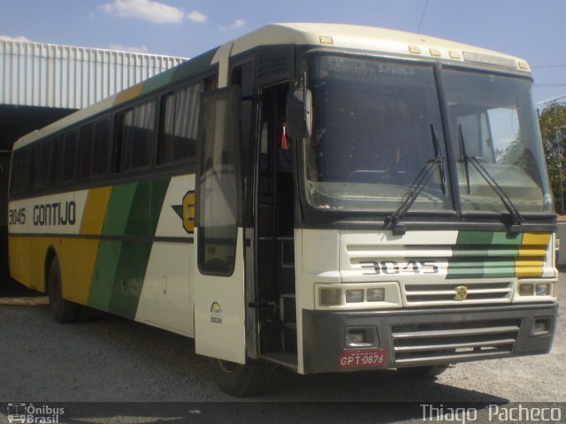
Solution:
[[[373,345],[362,349],[385,350],[380,368],[547,353],[557,314],[557,303],[370,312],[303,310],[303,372],[352,370],[339,367],[340,352],[360,349],[347,345],[352,329],[377,331],[377,340],[370,340]],[[534,331],[535,321],[544,322],[547,330]]]

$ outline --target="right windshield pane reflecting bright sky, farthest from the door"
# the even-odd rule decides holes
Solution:
[[[520,212],[549,211],[531,81],[456,69],[442,73],[463,211],[507,211],[468,158],[486,170]]]

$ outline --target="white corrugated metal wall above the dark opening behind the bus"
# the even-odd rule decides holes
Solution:
[[[184,60],[0,40],[0,104],[81,109]]]

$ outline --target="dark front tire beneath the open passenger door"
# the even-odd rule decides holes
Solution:
[[[226,394],[246,398],[262,392],[269,382],[272,368],[252,361],[248,365],[209,358],[212,376]]]

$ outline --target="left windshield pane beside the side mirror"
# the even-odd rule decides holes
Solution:
[[[310,205],[395,210],[435,159],[434,139],[444,145],[432,65],[317,56],[308,74],[314,127],[304,143],[304,171]],[[439,165],[410,211],[452,209]]]

